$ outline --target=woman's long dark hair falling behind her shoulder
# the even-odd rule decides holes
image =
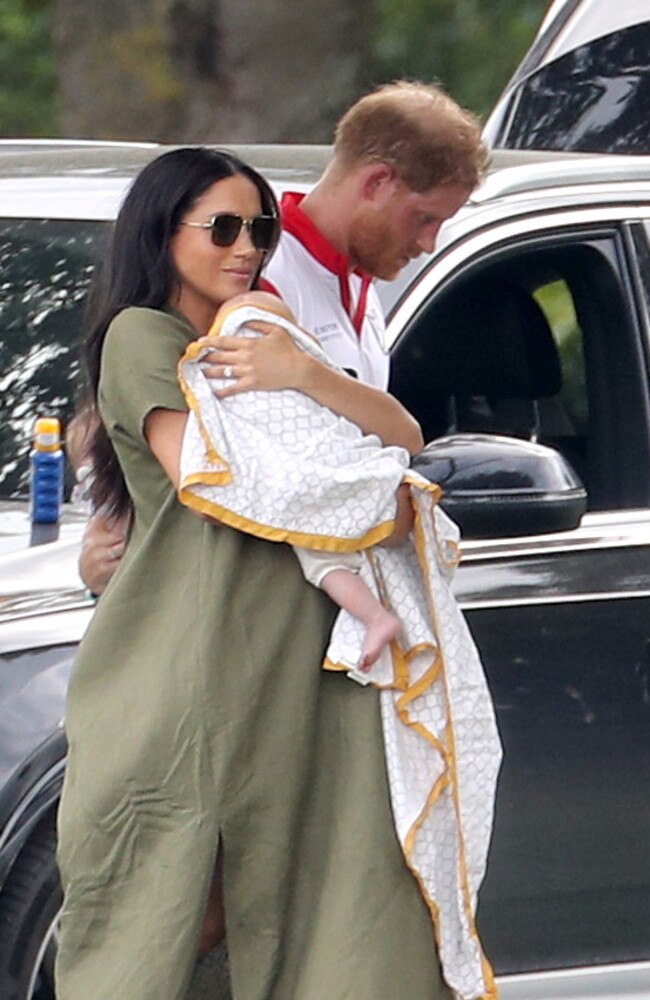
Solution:
[[[230,153],[186,147],[152,160],[136,177],[117,216],[108,254],[89,296],[86,319],[87,406],[94,414],[91,500],[95,510],[108,516],[129,513],[131,498],[106,428],[97,417],[106,331],[127,306],[162,309],[170,300],[177,276],[169,245],[181,219],[204,191],[235,174],[255,185],[264,214],[278,215],[273,191],[252,167]],[[274,249],[265,255],[264,263]]]

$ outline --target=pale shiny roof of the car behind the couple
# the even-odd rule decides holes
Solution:
[[[113,219],[133,177],[173,145],[86,140],[0,140],[0,214]],[[223,145],[281,193],[307,191],[331,156],[327,145]],[[494,150],[474,204],[508,194],[650,178],[650,157]]]

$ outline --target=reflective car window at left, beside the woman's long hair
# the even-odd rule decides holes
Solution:
[[[83,303],[107,224],[0,220],[0,496],[23,495],[36,417],[65,425],[81,388]]]

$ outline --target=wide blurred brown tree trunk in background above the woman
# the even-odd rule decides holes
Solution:
[[[369,79],[374,0],[52,0],[76,137],[328,141]]]

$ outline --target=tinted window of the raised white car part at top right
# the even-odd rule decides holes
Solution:
[[[543,66],[513,97],[497,146],[650,152],[650,22],[581,45]],[[506,119],[507,120],[507,119]]]

